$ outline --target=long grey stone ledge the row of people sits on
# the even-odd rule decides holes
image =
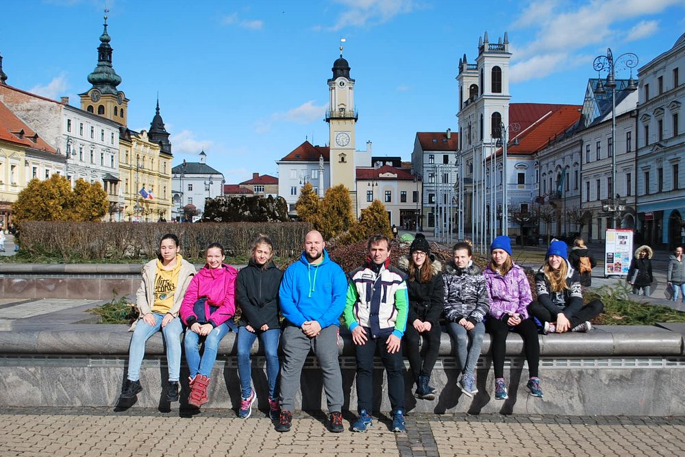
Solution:
[[[432,375],[438,390],[434,402],[413,397],[413,380],[406,374],[409,410],[419,412],[525,412],[556,415],[684,415],[685,325],[597,326],[588,334],[540,336],[540,379],[544,399],[525,390],[527,365],[518,334],[507,339],[505,378],[510,399],[495,401],[493,371],[486,334],[477,365],[479,393],[469,398],[456,387],[458,370],[453,341],[443,332],[440,358]],[[61,325],[52,330],[0,332],[0,404],[4,406],[114,406],[125,379],[131,333],[127,325]],[[212,371],[208,408],[237,408],[240,384],[236,365],[236,334],[221,342]],[[258,343],[253,347],[253,385],[266,410],[264,357]],[[349,333],[341,333],[340,366],[343,369],[345,408],[356,410],[354,347]],[[390,405],[382,364],[377,360],[374,409]],[[408,369],[408,362],[406,361]],[[166,403],[163,384],[168,375],[161,334],[147,343],[142,365],[144,391],[136,406],[178,408]],[[182,363],[181,408],[186,404],[188,369]],[[302,395],[297,408],[325,409],[321,371],[316,358],[306,361]]]

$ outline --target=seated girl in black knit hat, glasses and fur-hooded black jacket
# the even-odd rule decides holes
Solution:
[[[416,380],[416,397],[435,399],[435,388],[429,386],[430,375],[440,349],[440,312],[443,310],[442,265],[430,253],[423,234],[409,248],[409,257],[399,258],[399,268],[407,272],[409,312],[404,332],[406,354]],[[423,347],[419,351],[419,335]]]

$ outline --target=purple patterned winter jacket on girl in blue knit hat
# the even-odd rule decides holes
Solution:
[[[490,290],[490,310],[488,314],[501,319],[504,314],[518,312],[521,319],[530,317],[528,305],[533,301],[530,293],[530,283],[525,271],[514,264],[505,276],[488,268],[483,271],[485,282]]]

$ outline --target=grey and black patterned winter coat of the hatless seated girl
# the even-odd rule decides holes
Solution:
[[[452,260],[445,264],[443,274],[445,305],[443,312],[449,322],[459,322],[462,317],[476,324],[483,320],[490,309],[490,292],[485,276],[473,263],[459,268]]]

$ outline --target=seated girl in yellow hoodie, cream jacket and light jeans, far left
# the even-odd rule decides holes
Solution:
[[[145,342],[156,332],[162,332],[169,366],[169,384],[166,399],[178,400],[181,374],[181,334],[183,325],[179,310],[195,267],[179,251],[178,237],[166,234],[160,240],[160,254],[142,267],[142,280],[136,293],[136,308],[140,316],[132,325],[133,335],[129,346],[129,367],[121,399],[136,397],[140,385],[140,366],[145,356]]]

